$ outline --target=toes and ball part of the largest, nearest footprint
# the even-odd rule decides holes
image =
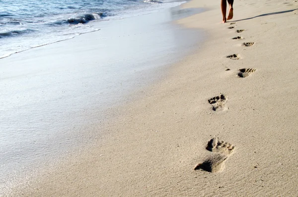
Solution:
[[[206,149],[211,152],[222,153],[226,156],[230,155],[234,151],[234,146],[225,141],[219,141],[218,137],[210,139],[207,143]]]

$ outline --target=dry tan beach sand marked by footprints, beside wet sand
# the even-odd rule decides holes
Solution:
[[[225,24],[220,1],[182,7],[206,10],[176,21],[204,30],[197,49],[86,126],[97,143],[2,196],[298,195],[298,1],[235,0]]]

